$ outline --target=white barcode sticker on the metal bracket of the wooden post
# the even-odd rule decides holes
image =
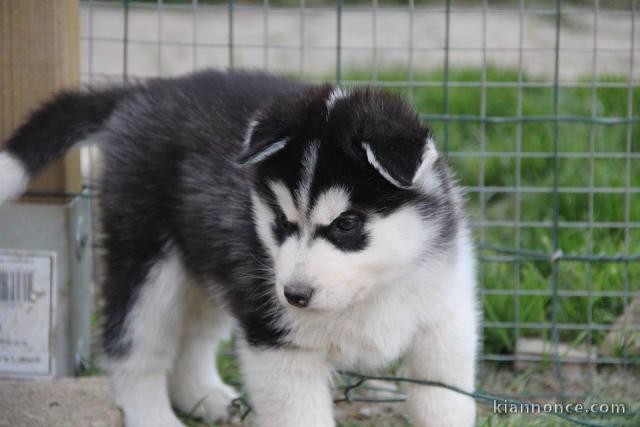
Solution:
[[[0,375],[53,375],[55,254],[0,251]]]

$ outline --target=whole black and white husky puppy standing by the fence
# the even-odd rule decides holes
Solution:
[[[474,388],[474,255],[460,192],[400,97],[259,72],[66,92],[0,153],[0,201],[82,142],[104,153],[104,351],[126,425],[224,417],[214,362],[235,327],[262,427],[334,426],[336,369],[404,356]],[[472,399],[409,386],[416,426]]]

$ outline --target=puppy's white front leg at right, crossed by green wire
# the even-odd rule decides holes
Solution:
[[[474,310],[455,310],[415,337],[408,354],[415,378],[439,381],[464,391],[474,390],[477,348]],[[411,385],[409,412],[417,427],[471,427],[475,401],[459,393],[428,385]]]

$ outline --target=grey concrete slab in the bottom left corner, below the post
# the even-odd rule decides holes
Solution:
[[[0,379],[0,427],[121,427],[105,378]]]

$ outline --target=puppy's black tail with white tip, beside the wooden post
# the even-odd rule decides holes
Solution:
[[[126,93],[62,92],[35,111],[0,150],[0,205],[22,195],[31,177],[99,131]]]

